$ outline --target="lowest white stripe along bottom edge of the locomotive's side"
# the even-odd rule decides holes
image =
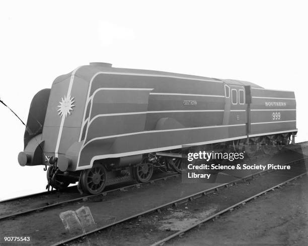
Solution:
[[[182,148],[183,146],[189,146],[189,145],[213,144],[213,143],[220,143],[220,142],[232,141],[232,140],[238,140],[238,139],[245,139],[245,138],[247,138],[247,136],[228,138],[228,139],[218,139],[218,140],[211,140],[211,141],[205,141],[205,142],[199,142],[199,143],[190,143],[190,144],[184,144],[184,145],[168,146],[168,147],[163,147],[163,148],[155,148],[155,149],[147,149],[147,150],[140,150],[140,151],[132,151],[132,152],[119,153],[119,154],[99,155],[99,156],[94,156],[91,159],[90,165],[81,166],[81,167],[78,166],[76,168],[76,170],[83,170],[83,169],[92,168],[92,165],[93,165],[94,161],[99,160],[99,159],[103,159],[103,158],[116,158],[116,157],[122,157],[122,156],[132,156],[132,155],[138,155],[138,154],[144,154],[144,153],[151,153],[151,152],[179,149],[179,148]]]

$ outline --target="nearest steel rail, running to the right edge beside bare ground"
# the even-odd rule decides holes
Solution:
[[[242,201],[240,201],[240,202],[238,202],[238,203],[236,203],[236,204],[234,204],[234,205],[232,205],[232,206],[229,206],[229,207],[227,207],[227,208],[225,208],[225,209],[222,209],[221,211],[219,211],[219,212],[217,212],[217,213],[215,213],[215,214],[213,214],[213,215],[211,215],[211,216],[209,216],[209,217],[206,217],[206,218],[204,218],[203,220],[201,220],[201,221],[199,221],[199,222],[197,222],[197,223],[195,223],[195,224],[193,224],[193,225],[191,225],[191,226],[189,226],[189,227],[187,227],[187,228],[185,228],[185,229],[183,229],[183,230],[180,230],[180,231],[178,231],[178,232],[176,232],[176,233],[174,233],[174,234],[172,234],[172,235],[170,235],[170,236],[165,237],[165,238],[162,239],[162,240],[159,240],[159,241],[157,241],[157,242],[151,244],[151,246],[162,245],[162,244],[164,244],[165,242],[169,241],[170,239],[172,239],[172,238],[174,238],[174,237],[176,237],[176,236],[181,236],[181,235],[183,235],[185,232],[187,232],[187,231],[189,231],[189,230],[195,228],[196,226],[198,226],[198,225],[200,225],[200,224],[203,224],[203,223],[207,222],[207,221],[210,220],[210,219],[216,218],[216,217],[219,216],[220,214],[223,214],[223,213],[225,213],[225,212],[227,212],[227,211],[229,211],[229,210],[232,210],[232,209],[235,208],[235,207],[238,207],[238,206],[240,206],[240,205],[242,205],[242,204],[245,204],[246,202],[248,202],[248,201],[254,199],[255,197],[261,196],[261,195],[263,195],[263,194],[265,194],[265,193],[267,193],[267,192],[269,192],[269,191],[272,191],[272,190],[274,190],[275,188],[280,187],[280,186],[282,186],[282,185],[284,185],[284,184],[286,184],[286,183],[288,183],[288,182],[290,182],[290,181],[292,181],[292,180],[296,180],[297,178],[301,178],[303,175],[306,175],[306,174],[307,174],[307,172],[304,172],[304,173],[302,173],[302,174],[300,174],[300,175],[297,175],[297,176],[295,176],[295,177],[293,177],[293,178],[290,178],[290,179],[288,179],[288,180],[286,180],[286,181],[284,181],[284,182],[282,182],[282,183],[280,183],[280,184],[278,184],[278,185],[274,185],[274,186],[272,186],[271,188],[268,188],[268,189],[266,189],[266,190],[264,190],[264,191],[261,191],[261,192],[259,192],[259,193],[256,194],[256,195],[253,195],[253,196],[251,196],[251,197],[249,197],[249,198],[247,198],[247,199],[244,199],[244,200],[242,200]]]

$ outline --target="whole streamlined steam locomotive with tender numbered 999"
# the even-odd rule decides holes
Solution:
[[[253,156],[294,139],[294,92],[247,81],[90,63],[33,98],[21,166],[49,166],[48,184],[88,193],[154,167],[181,172],[185,146]],[[193,147],[192,147],[193,146]]]

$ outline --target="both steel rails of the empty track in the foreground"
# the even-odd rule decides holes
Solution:
[[[290,161],[290,162],[286,162],[286,163],[281,163],[281,165],[294,165],[294,164],[299,164],[299,163],[302,163],[304,162],[306,159],[308,159],[308,157],[303,157],[303,158],[300,158],[300,159],[296,159],[296,160],[293,160],[293,161]],[[213,192],[216,192],[216,191],[219,191],[221,189],[224,189],[224,188],[227,188],[229,186],[233,186],[233,185],[236,185],[240,182],[246,182],[247,180],[250,180],[250,179],[253,179],[257,176],[263,176],[267,173],[275,173],[277,171],[273,171],[273,170],[265,170],[265,171],[260,171],[260,172],[256,172],[254,174],[251,174],[251,175],[248,175],[248,176],[245,176],[245,177],[242,177],[242,178],[238,178],[236,180],[233,180],[232,182],[229,182],[229,183],[224,183],[224,184],[221,184],[221,185],[217,185],[217,186],[214,186],[210,189],[206,189],[206,190],[203,190],[203,191],[200,191],[200,192],[197,192],[197,193],[194,193],[194,194],[190,194],[189,196],[185,196],[185,197],[182,197],[180,199],[177,199],[177,200],[174,200],[172,202],[168,202],[168,203],[165,203],[165,204],[162,204],[160,206],[157,206],[157,207],[154,207],[154,208],[151,208],[149,210],[146,210],[146,211],[142,211],[140,213],[137,213],[137,214],[134,214],[132,216],[129,216],[129,217],[126,217],[126,218],[123,218],[121,220],[118,220],[114,223],[110,223],[108,225],[104,225],[104,226],[101,226],[95,230],[92,230],[92,231],[88,231],[88,232],[85,232],[85,233],[82,233],[80,235],[76,235],[76,236],[73,236],[73,237],[70,237],[68,239],[65,239],[65,240],[62,240],[62,241],[59,241],[57,243],[54,243],[52,244],[53,246],[55,245],[70,245],[70,242],[77,242],[79,239],[81,238],[84,238],[84,237],[87,237],[88,235],[90,234],[93,234],[95,232],[102,232],[103,230],[105,231],[106,229],[111,229],[113,226],[115,225],[119,225],[123,222],[126,222],[126,221],[129,221],[131,219],[134,219],[134,218],[137,218],[137,217],[140,217],[140,216],[145,216],[147,214],[151,214],[151,213],[161,213],[161,211],[165,208],[169,208],[169,207],[178,207],[180,204],[183,204],[183,203],[187,203],[187,202],[191,202],[193,200],[196,200],[198,198],[201,198],[201,197],[204,197],[205,195],[208,195],[208,194],[211,194]],[[257,196],[260,196],[272,189],[275,189],[276,187],[279,187],[287,182],[290,182],[291,180],[293,179],[296,179],[298,177],[301,177],[303,175],[306,174],[306,171],[305,172],[302,172],[298,175],[296,175],[295,177],[292,177],[290,179],[287,179],[283,182],[280,182],[278,184],[275,184],[274,186],[271,186],[270,188],[267,188],[261,192],[258,192],[257,194],[254,194],[253,196],[250,196],[249,198],[245,198],[244,200],[241,200],[240,202],[237,202],[235,204],[232,204],[230,206],[228,206],[227,208],[224,208],[224,209],[221,209],[219,211],[217,211],[215,214],[211,215],[211,216],[208,216],[206,218],[204,218],[203,220],[199,221],[198,223],[195,223],[183,230],[180,230],[176,233],[173,233],[172,235],[169,235],[168,237],[165,237],[157,242],[155,242],[153,245],[160,245],[162,243],[164,243],[165,241],[168,241],[178,235],[182,235],[183,233],[185,233],[186,231],[198,226],[199,224],[202,224],[212,218],[215,218],[217,217],[219,214],[222,214],[226,211],[229,211],[230,209],[233,209],[234,207],[237,207],[243,203],[246,203],[247,201],[251,200],[251,199],[254,199],[254,197],[257,197]]]

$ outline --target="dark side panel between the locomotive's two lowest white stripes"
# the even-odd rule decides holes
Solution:
[[[147,153],[147,150],[149,149],[245,136],[245,132],[245,126],[238,126],[185,131],[151,132],[122,136],[113,139],[96,140],[88,144],[81,152],[80,166],[90,165],[92,157],[96,155],[112,155],[141,150],[144,150],[144,153]],[[125,156],[127,154],[123,155]]]

